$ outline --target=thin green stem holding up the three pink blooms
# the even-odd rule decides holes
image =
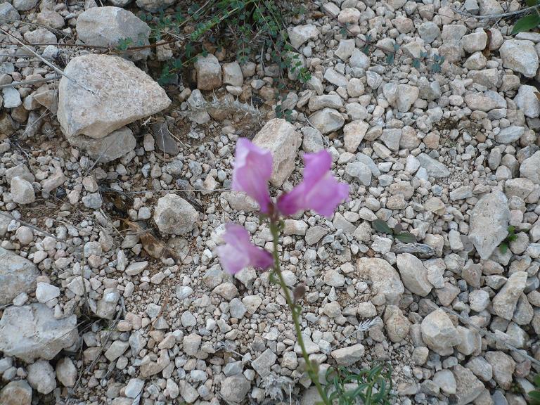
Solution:
[[[272,233],[272,237],[274,238],[274,272],[276,273],[276,276],[278,276],[279,284],[281,285],[281,289],[283,290],[283,295],[285,295],[285,302],[287,302],[287,305],[290,309],[291,314],[293,315],[293,321],[295,323],[295,330],[296,330],[296,337],[298,340],[298,345],[300,345],[300,349],[302,349],[302,357],[304,357],[304,361],[306,362],[306,371],[309,375],[309,378],[311,378],[311,381],[315,384],[315,387],[317,388],[317,392],[319,392],[319,395],[321,396],[321,399],[323,400],[323,403],[326,405],[332,405],[332,402],[328,397],[326,396],[326,393],[323,390],[323,387],[321,386],[321,383],[319,383],[319,375],[317,371],[314,369],[314,366],[311,364],[311,361],[309,360],[309,356],[306,351],[306,346],[304,345],[304,339],[302,338],[302,329],[300,328],[300,311],[297,310],[297,307],[295,305],[295,302],[293,301],[293,298],[290,297],[289,290],[287,288],[287,285],[285,284],[285,279],[283,278],[283,274],[281,274],[281,266],[279,264],[279,254],[278,254],[278,238],[279,238],[279,226],[276,223],[276,221],[270,221],[270,231]]]

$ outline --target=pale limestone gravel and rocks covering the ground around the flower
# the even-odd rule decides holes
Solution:
[[[311,72],[285,94],[292,123],[275,118],[277,71],[261,60],[218,50],[164,89],[144,71],[167,46],[107,54],[148,44],[136,15],[173,1],[99,3],[0,4],[0,404],[314,403],[278,288],[224,274],[214,253],[226,221],[269,247],[257,205],[229,190],[236,140],[257,133],[276,193],[321,148],[351,186],[333,218],[299,214],[282,240],[321,379],[387,361],[397,404],[526,404],[540,34],[480,18],[517,1],[307,4],[289,27]]]

